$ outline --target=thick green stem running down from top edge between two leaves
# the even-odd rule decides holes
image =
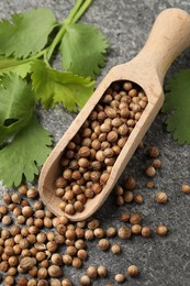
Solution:
[[[67,19],[65,20],[63,26],[58,31],[57,35],[55,36],[47,52],[44,54],[45,62],[49,62],[55,47],[60,43],[63,36],[65,35],[67,31],[67,26],[76,23],[81,18],[81,15],[85,13],[85,11],[88,9],[88,7],[91,4],[92,1],[93,0],[85,0],[83,2],[83,0],[77,0],[75,7],[70,11]]]

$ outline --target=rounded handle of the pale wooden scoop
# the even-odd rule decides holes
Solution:
[[[135,57],[156,68],[163,84],[166,72],[183,50],[190,45],[190,14],[177,8],[160,12],[147,42]]]

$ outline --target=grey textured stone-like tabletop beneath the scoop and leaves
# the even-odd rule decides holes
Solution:
[[[0,1],[0,18],[13,12],[22,12],[32,7],[48,7],[54,10],[58,20],[67,15],[74,4],[74,0],[7,0]],[[188,0],[94,0],[83,21],[93,23],[100,28],[110,42],[110,52],[105,68],[98,78],[98,82],[109,69],[133,58],[143,47],[149,29],[156,15],[164,9],[178,7],[190,12]],[[186,51],[172,65],[169,73],[172,75],[180,68],[189,68],[190,50]],[[59,58],[55,61],[59,65]],[[69,127],[74,116],[57,107],[52,111],[42,111],[42,122],[55,136],[55,141],[62,136]],[[111,252],[101,252],[97,248],[97,241],[89,244],[89,260],[82,270],[68,267],[66,276],[70,277],[75,285],[79,285],[78,277],[88,265],[104,264],[109,268],[107,279],[98,279],[93,285],[105,285],[113,282],[114,274],[125,272],[130,264],[139,267],[141,275],[127,278],[124,285],[141,286],[189,286],[190,285],[190,196],[180,191],[182,183],[190,184],[190,146],[179,146],[166,132],[165,116],[158,114],[154,124],[145,136],[145,150],[150,145],[157,145],[160,151],[163,168],[158,172],[155,183],[156,188],[149,190],[145,187],[147,178],[143,169],[148,164],[144,151],[139,150],[131,160],[121,177],[132,174],[137,178],[136,193],[144,197],[144,204],[124,205],[118,208],[113,194],[97,212],[104,228],[114,226],[119,228],[120,213],[124,211],[137,211],[143,216],[143,223],[156,228],[158,223],[168,227],[166,238],[153,235],[150,239],[135,237],[128,241],[121,241],[122,254],[113,256]],[[2,187],[0,187],[1,189]],[[3,188],[2,188],[3,189]],[[158,206],[154,201],[155,194],[163,189],[168,194],[169,201],[165,206]],[[113,241],[116,241],[114,239]],[[116,285],[116,283],[114,284]]]

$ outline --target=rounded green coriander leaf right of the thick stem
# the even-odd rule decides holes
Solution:
[[[107,47],[99,29],[86,23],[69,25],[60,44],[63,68],[94,78],[105,64]]]

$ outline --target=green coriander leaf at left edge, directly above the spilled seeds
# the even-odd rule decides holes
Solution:
[[[7,187],[19,186],[23,177],[33,182],[51,152],[49,133],[37,122],[36,116],[14,140],[0,150],[0,178]]]

